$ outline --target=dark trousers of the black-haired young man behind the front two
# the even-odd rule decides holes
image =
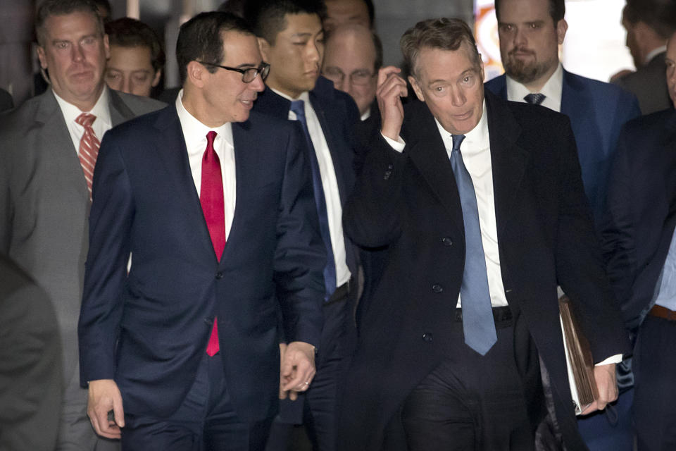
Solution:
[[[270,430],[266,451],[286,451],[294,424],[304,424],[313,450],[334,451],[337,444],[337,394],[349,354],[349,302],[337,299],[323,307],[324,326],[317,373],[309,390],[296,401],[282,400]]]

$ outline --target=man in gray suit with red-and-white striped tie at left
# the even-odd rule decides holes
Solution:
[[[163,104],[105,86],[108,37],[91,0],[45,0],[36,33],[51,89],[0,121],[0,253],[54,304],[65,387],[53,412],[61,416],[57,449],[100,450],[77,368],[92,172],[106,130]]]

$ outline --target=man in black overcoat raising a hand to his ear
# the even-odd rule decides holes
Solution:
[[[568,118],[484,92],[472,31],[423,20],[378,75],[380,134],[344,210],[360,246],[389,246],[362,314],[342,450],[584,450],[556,285],[597,363],[603,409],[627,352]],[[606,364],[607,363],[607,364]],[[548,428],[541,373],[548,381]]]

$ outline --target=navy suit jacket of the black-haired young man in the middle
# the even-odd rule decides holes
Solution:
[[[333,87],[333,82],[320,77],[310,91],[310,103],[322,126],[326,143],[331,152],[334,171],[338,182],[340,202],[345,206],[354,185],[354,126],[359,122],[359,111],[349,96]],[[258,95],[253,110],[276,118],[289,118],[291,101],[284,99],[270,88]],[[347,266],[352,276],[357,275],[357,252],[348,237],[345,237]]]

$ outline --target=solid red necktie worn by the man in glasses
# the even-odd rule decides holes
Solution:
[[[220,261],[225,249],[225,200],[223,199],[223,175],[220,172],[220,161],[213,149],[216,132],[206,134],[206,150],[202,157],[202,182],[199,188],[199,203],[202,206],[206,226],[211,235],[211,243]],[[213,356],[218,352],[218,326],[213,319],[213,328],[206,353]]]

